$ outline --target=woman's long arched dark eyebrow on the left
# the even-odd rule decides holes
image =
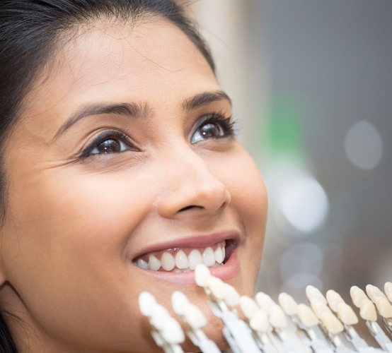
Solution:
[[[74,125],[77,121],[83,119],[85,116],[98,114],[117,114],[130,117],[145,117],[149,111],[149,105],[146,103],[115,103],[115,104],[91,104],[82,107],[76,114],[73,114],[64,124],[57,130],[54,138],[61,135]]]

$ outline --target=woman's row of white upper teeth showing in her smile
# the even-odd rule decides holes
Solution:
[[[158,271],[163,269],[166,271],[173,272],[188,272],[195,270],[198,263],[204,263],[208,267],[214,265],[221,265],[224,261],[225,256],[225,242],[221,242],[215,246],[209,246],[202,249],[188,249],[185,253],[183,249],[172,249],[169,251],[163,251],[161,256],[157,253],[150,254],[148,258],[139,258],[134,261],[134,265],[145,270]],[[160,257],[160,258],[159,258]]]

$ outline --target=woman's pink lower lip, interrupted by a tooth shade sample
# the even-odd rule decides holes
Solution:
[[[218,277],[221,280],[227,281],[236,277],[239,272],[238,254],[237,249],[231,253],[229,260],[216,268],[209,268],[211,274],[214,277]],[[142,270],[147,275],[154,277],[156,280],[161,282],[169,282],[177,285],[195,285],[195,272],[185,272],[185,273],[171,273],[163,271],[151,271]]]

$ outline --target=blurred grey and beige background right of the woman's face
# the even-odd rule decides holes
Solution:
[[[392,281],[392,1],[188,2],[270,198],[258,290]]]

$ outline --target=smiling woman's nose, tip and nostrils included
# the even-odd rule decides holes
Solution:
[[[165,189],[158,202],[162,217],[178,217],[190,211],[215,215],[229,205],[231,195],[226,185],[192,148],[183,148],[169,159],[163,173]]]

